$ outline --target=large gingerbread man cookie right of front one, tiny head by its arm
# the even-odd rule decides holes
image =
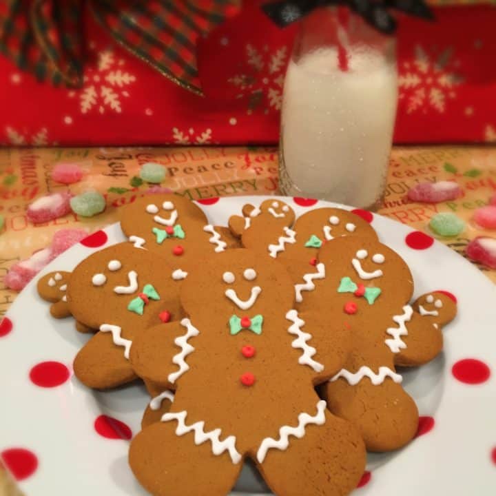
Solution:
[[[346,364],[322,388],[329,409],[360,428],[369,451],[400,448],[417,431],[418,411],[395,366],[421,365],[440,353],[455,302],[428,293],[412,307],[408,266],[372,237],[327,243],[316,273],[324,276],[296,285],[301,318],[311,322],[325,309],[329,333],[345,325],[353,336]]]

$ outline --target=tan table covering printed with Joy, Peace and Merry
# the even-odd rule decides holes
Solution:
[[[153,161],[167,167],[162,187],[186,198],[211,196],[280,194],[278,190],[278,150],[273,147],[124,147],[124,148],[37,148],[0,149],[0,215],[5,227],[0,231],[0,279],[9,267],[34,251],[50,244],[58,229],[79,227],[90,234],[114,223],[118,208],[130,203],[148,186],[136,180],[143,163]],[[35,198],[68,189],[54,183],[50,171],[57,163],[77,163],[85,176],[70,186],[77,194],[96,189],[105,194],[107,209],[93,218],[75,214],[34,226],[25,210]],[[438,204],[411,203],[408,190],[424,181],[454,180],[464,195]],[[394,147],[384,201],[379,214],[424,231],[464,256],[468,242],[476,236],[496,233],[473,223],[475,209],[488,204],[496,192],[496,147],[435,146]],[[453,212],[466,222],[466,229],[454,238],[440,238],[428,227],[439,212]],[[496,282],[496,271],[475,264]],[[0,317],[17,293],[0,280]],[[3,448],[0,438],[0,451]],[[0,464],[0,496],[17,495]]]

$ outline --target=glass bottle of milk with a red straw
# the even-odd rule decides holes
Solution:
[[[376,208],[396,103],[393,37],[345,8],[318,8],[304,17],[282,102],[283,194]]]

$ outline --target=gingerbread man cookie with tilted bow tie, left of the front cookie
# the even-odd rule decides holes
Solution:
[[[178,286],[167,262],[152,251],[120,243],[90,255],[72,272],[68,304],[74,318],[99,331],[74,360],[83,384],[105,389],[136,378],[128,360],[146,327],[182,318]]]

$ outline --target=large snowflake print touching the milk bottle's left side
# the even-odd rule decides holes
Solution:
[[[236,98],[247,101],[247,114],[253,114],[258,109],[263,109],[265,114],[269,110],[280,110],[287,47],[283,46],[273,53],[269,52],[267,45],[258,50],[248,43],[245,48],[245,67],[227,80],[238,89]]]

